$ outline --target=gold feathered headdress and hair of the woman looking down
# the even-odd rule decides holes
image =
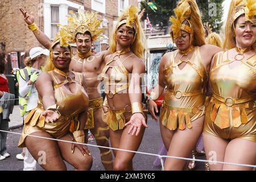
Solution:
[[[193,46],[202,46],[205,44],[203,23],[201,15],[195,0],[181,0],[174,10],[175,16],[170,17],[171,38],[181,36],[181,30],[186,31],[191,36]]]

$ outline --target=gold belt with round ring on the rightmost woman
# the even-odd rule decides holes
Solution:
[[[253,94],[251,96],[235,99],[232,97],[221,97],[221,96],[218,96],[216,93],[213,93],[214,99],[224,103],[228,107],[232,107],[233,105],[238,105],[239,107],[246,107],[249,109],[253,109],[255,107],[255,96],[256,94]]]

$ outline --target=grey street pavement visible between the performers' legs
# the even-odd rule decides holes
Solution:
[[[14,107],[13,114],[10,115],[9,130],[15,133],[22,132],[22,118],[19,114],[18,106]],[[22,152],[22,148],[18,148],[19,134],[8,134],[7,151],[11,154],[9,158],[0,160],[0,171],[22,171],[23,161],[15,158],[16,154]],[[88,146],[93,155],[92,171],[104,171],[104,167],[100,160],[100,151],[96,147],[96,142],[89,142],[95,146]],[[146,152],[150,154],[158,154],[161,147],[162,139],[160,137],[159,123],[156,123],[148,115],[148,128],[145,130],[139,152]],[[133,159],[133,166],[135,171],[160,171],[160,166],[154,166],[156,157],[152,155],[136,154]],[[205,156],[199,156],[199,159],[205,159]],[[73,167],[67,164],[67,169],[72,171]],[[203,171],[204,164],[197,162],[196,171]],[[42,171],[43,168],[37,164],[37,170]]]

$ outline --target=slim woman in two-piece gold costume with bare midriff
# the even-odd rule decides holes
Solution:
[[[107,107],[102,117],[110,127],[112,147],[132,151],[138,150],[147,127],[141,91],[141,74],[145,71],[144,37],[137,12],[137,7],[130,6],[120,16],[110,42],[112,54],[106,57],[102,70],[108,100],[108,105],[104,102]],[[113,152],[114,170],[133,169],[134,152]]]

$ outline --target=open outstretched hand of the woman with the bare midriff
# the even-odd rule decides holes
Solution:
[[[142,113],[134,113],[134,114],[131,116],[130,121],[125,124],[125,126],[128,126],[128,125],[131,125],[131,126],[130,126],[130,129],[129,129],[129,131],[128,131],[128,134],[130,134],[131,131],[133,131],[133,132],[131,133],[131,136],[133,136],[134,134],[135,134],[136,136],[138,136],[139,131],[141,131],[142,125],[143,125],[144,127],[147,127],[146,120],[145,120],[145,118],[144,118],[144,116],[143,116]]]

